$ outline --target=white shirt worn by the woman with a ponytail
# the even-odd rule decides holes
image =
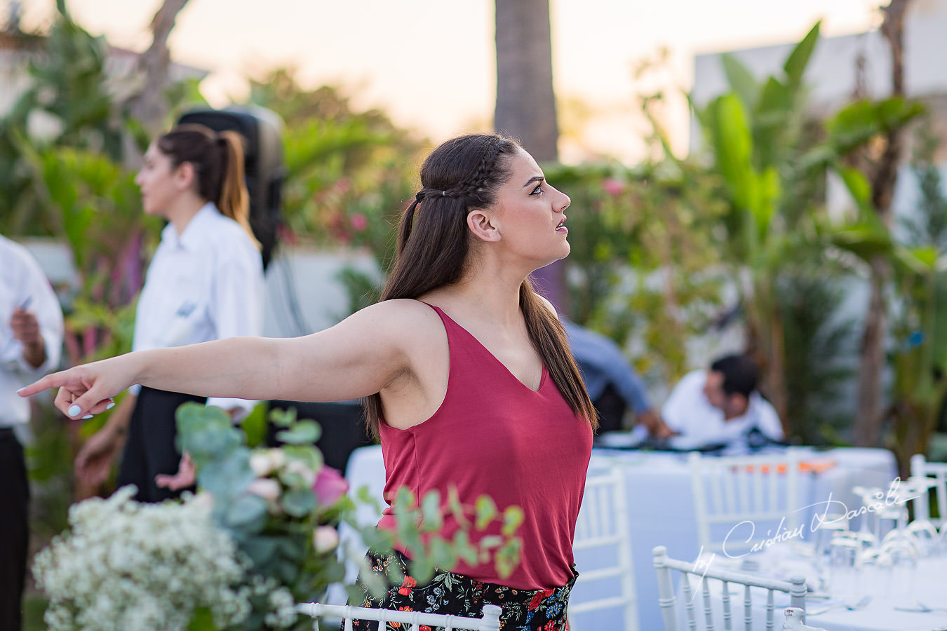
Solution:
[[[259,250],[239,223],[208,202],[183,234],[170,223],[161,233],[135,310],[132,350],[260,335],[262,301]],[[209,398],[207,405],[249,412],[254,402]]]

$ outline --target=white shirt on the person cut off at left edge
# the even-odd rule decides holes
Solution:
[[[13,310],[27,305],[36,316],[46,359],[33,368],[23,358],[23,343],[13,339]],[[45,273],[19,243],[0,236],[0,428],[24,425],[29,400],[16,391],[57,368],[63,350],[63,310]]]

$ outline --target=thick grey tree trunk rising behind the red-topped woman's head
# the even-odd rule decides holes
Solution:
[[[537,162],[559,159],[548,0],[496,0],[493,129],[517,138]],[[532,276],[561,313],[570,311],[563,261]]]

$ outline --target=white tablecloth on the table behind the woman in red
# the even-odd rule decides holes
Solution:
[[[666,452],[619,451],[594,449],[597,458],[607,458],[625,474],[628,522],[632,535],[634,584],[637,591],[639,628],[642,631],[660,629],[661,614],[652,563],[652,549],[666,546],[674,558],[696,558],[696,523],[687,455]],[[856,484],[886,487],[897,475],[894,456],[884,449],[836,448],[812,452],[810,460],[831,461],[834,466],[819,474],[805,474],[800,484],[802,500],[806,504],[842,500],[849,507],[859,504],[851,494]],[[384,490],[384,462],[381,447],[362,447],[352,452],[346,469],[346,478],[355,490],[367,486],[372,497],[381,500]],[[360,509],[361,523],[378,520],[373,511]],[[576,556],[581,574],[583,566],[596,565],[595,558]],[[582,598],[581,590],[573,595],[573,602]],[[614,615],[606,612],[604,615]],[[583,629],[618,629],[615,620],[596,618],[595,614],[576,620],[577,631]]]

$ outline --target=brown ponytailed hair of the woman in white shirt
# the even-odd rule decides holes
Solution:
[[[172,168],[186,162],[194,167],[197,194],[217,204],[225,217],[241,224],[259,248],[250,228],[250,195],[243,177],[240,134],[185,124],[159,136],[156,144],[170,158]]]

